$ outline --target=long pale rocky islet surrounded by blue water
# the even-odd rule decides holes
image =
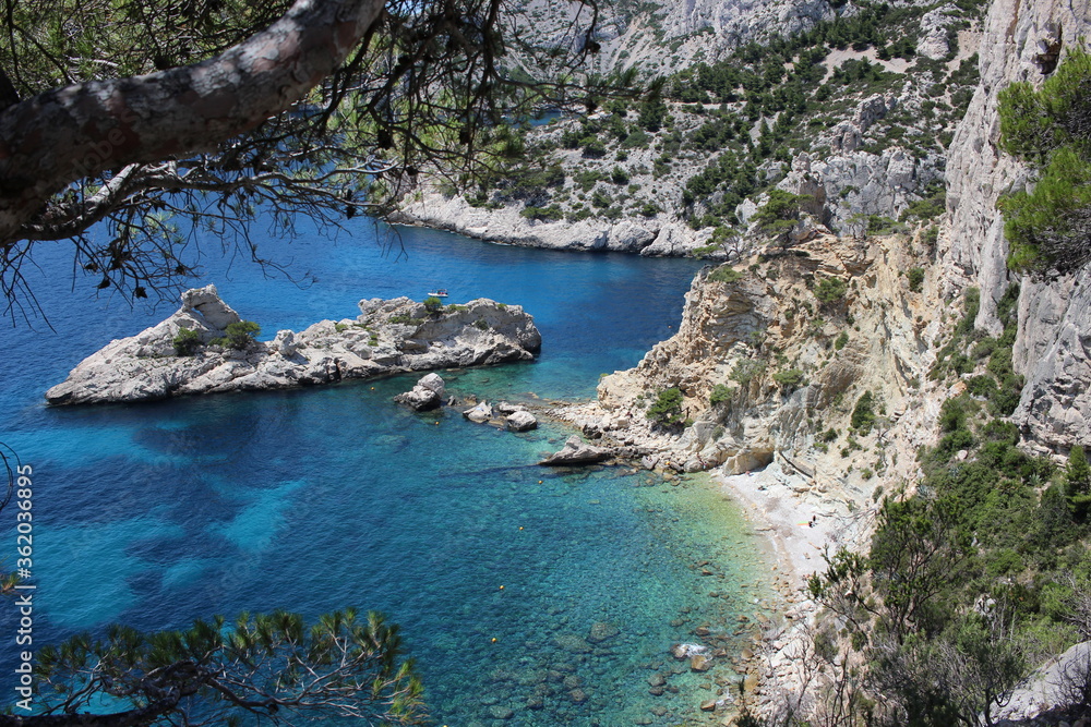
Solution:
[[[360,316],[279,331],[245,350],[215,344],[238,314],[213,286],[183,293],[182,307],[136,336],[111,341],[46,392],[50,404],[143,401],[188,393],[284,389],[350,378],[528,361],[541,348],[533,319],[518,305],[487,299],[430,313],[398,298],[360,301]],[[201,347],[177,355],[179,330]]]

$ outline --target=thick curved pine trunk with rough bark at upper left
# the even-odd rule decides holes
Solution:
[[[0,112],[0,250],[68,184],[130,163],[191,156],[253,129],[333,73],[383,0],[298,0],[216,58],[56,88]]]

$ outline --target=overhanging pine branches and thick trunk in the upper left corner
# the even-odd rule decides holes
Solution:
[[[0,290],[27,293],[40,240],[144,298],[191,274],[190,223],[260,259],[259,216],[290,235],[425,169],[470,183],[521,148],[513,118],[616,87],[575,73],[597,48],[577,11],[536,35],[503,0],[10,0]]]

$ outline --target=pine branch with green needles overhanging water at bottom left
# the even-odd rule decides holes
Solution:
[[[397,627],[351,609],[310,627],[286,611],[242,614],[231,625],[216,617],[181,631],[113,626],[100,639],[43,649],[35,669],[41,714],[0,716],[0,725],[82,724],[79,715],[92,711],[103,726],[227,725],[248,713],[272,725],[334,716],[417,725],[427,716]],[[101,714],[104,704],[111,712]]]

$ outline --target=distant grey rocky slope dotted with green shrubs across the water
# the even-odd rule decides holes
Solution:
[[[401,219],[520,245],[724,258],[751,249],[743,233],[775,189],[806,195],[806,211],[838,233],[938,215],[945,146],[976,82],[978,11],[820,5],[630,8],[625,23],[704,17],[702,43],[733,50],[666,76],[664,101],[613,100],[526,130],[527,161],[458,194],[422,178]],[[738,14],[746,29],[732,35],[710,13]],[[796,27],[784,13],[808,20]],[[622,34],[603,47],[614,43],[640,41]],[[656,43],[661,58],[669,38]]]

